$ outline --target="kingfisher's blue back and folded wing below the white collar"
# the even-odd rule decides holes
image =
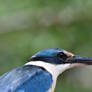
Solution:
[[[31,65],[19,67],[0,77],[0,92],[46,92],[51,85],[51,74]]]

